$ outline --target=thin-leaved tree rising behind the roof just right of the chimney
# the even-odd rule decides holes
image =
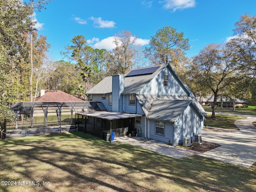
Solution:
[[[132,36],[130,31],[121,31],[114,37],[114,44],[116,47],[110,52],[109,74],[116,74],[120,72],[125,74],[128,72],[133,64],[134,57],[137,53],[137,45],[135,43],[136,37]]]

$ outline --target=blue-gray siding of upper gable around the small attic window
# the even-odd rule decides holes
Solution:
[[[168,86],[164,86],[164,75],[168,75]],[[169,70],[168,73],[161,71],[138,94],[187,95]]]

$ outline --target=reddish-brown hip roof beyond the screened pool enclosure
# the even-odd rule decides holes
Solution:
[[[37,102],[84,102],[84,100],[76,98],[63,91],[48,91],[43,96],[36,98]]]

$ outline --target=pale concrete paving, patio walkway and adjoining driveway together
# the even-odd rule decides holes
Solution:
[[[141,137],[119,137],[115,138],[114,141],[125,142],[172,158],[184,158],[196,154],[249,168],[256,162],[256,127],[252,125],[252,122],[255,120],[256,116],[248,116],[245,119],[236,121],[235,125],[240,129],[238,132],[211,132],[202,130],[202,140],[221,145],[204,153],[170,146],[154,140],[146,140]]]

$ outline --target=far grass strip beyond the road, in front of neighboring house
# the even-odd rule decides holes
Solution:
[[[212,107],[210,106],[204,106],[203,107],[206,112],[212,112]],[[223,106],[221,109],[220,107],[216,107],[215,114],[221,113],[232,113],[232,114],[245,114],[245,115],[256,115],[256,108],[254,106],[248,106],[248,108],[236,108],[235,111],[233,111],[233,108],[226,108]]]

